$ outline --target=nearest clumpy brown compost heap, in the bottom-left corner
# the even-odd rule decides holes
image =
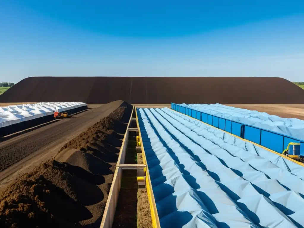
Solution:
[[[2,192],[1,227],[80,227],[91,213],[77,201],[77,181],[51,161],[36,167]]]

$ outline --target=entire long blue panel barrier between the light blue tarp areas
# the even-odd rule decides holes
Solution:
[[[258,127],[239,123],[237,121],[220,118],[218,116],[213,116],[205,112],[200,112],[189,108],[183,109],[182,107],[184,108],[184,106],[171,103],[171,108],[177,112],[186,114],[195,119],[199,119],[204,123],[217,127],[226,132],[232,133],[233,135],[239,136],[243,139],[260,144],[261,146],[274,150],[278,153],[282,153],[283,150],[287,148],[288,143],[300,142],[300,154],[304,155],[303,140],[292,138],[290,136],[286,136],[270,130],[265,130]],[[292,150],[292,148],[289,148],[289,150]]]

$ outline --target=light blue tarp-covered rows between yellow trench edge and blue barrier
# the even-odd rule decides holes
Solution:
[[[162,228],[304,225],[304,167],[168,108],[138,119]]]

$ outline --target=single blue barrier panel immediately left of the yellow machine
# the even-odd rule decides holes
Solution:
[[[278,153],[282,153],[283,148],[283,136],[269,131],[262,130],[261,145],[274,150]]]

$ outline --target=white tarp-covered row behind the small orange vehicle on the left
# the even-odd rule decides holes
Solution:
[[[0,127],[53,115],[56,109],[59,112],[64,112],[86,105],[83,102],[41,102],[0,107]]]

